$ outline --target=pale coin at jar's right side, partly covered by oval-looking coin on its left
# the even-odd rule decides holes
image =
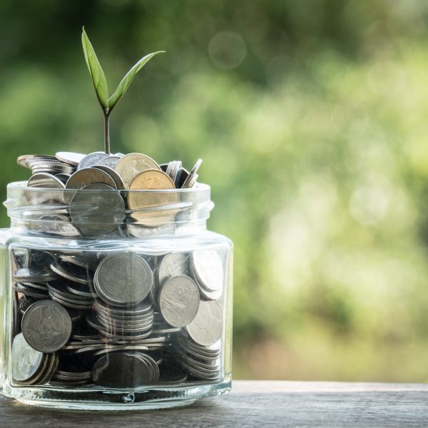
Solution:
[[[223,311],[217,300],[201,300],[198,314],[185,330],[198,345],[217,342],[223,331]]]

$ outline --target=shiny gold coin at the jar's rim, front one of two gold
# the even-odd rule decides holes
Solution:
[[[138,192],[132,190],[175,189],[173,180],[161,170],[149,169],[136,175],[129,185],[128,206],[138,224],[151,228],[173,221],[178,208],[176,192]]]

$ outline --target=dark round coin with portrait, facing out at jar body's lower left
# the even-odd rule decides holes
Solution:
[[[35,302],[22,318],[24,338],[39,352],[59,350],[68,341],[71,326],[66,309],[52,300]]]

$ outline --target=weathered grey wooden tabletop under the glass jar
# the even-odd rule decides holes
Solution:
[[[427,427],[428,384],[235,381],[189,407],[76,412],[0,398],[1,428]]]

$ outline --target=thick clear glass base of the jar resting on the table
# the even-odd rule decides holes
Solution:
[[[227,394],[231,381],[185,387],[151,388],[138,391],[55,387],[5,387],[3,393],[37,407],[76,410],[151,410],[185,407],[197,399]]]

